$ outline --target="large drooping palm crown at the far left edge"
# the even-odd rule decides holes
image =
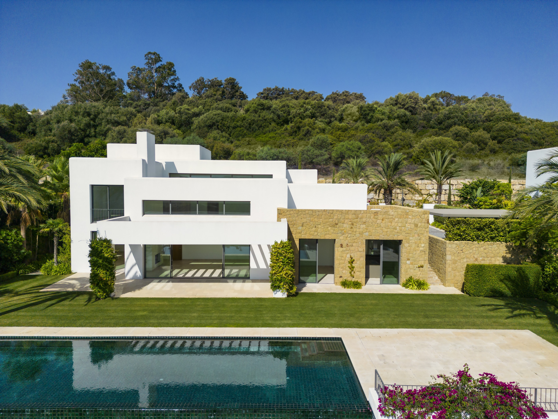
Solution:
[[[39,176],[39,170],[27,161],[0,154],[0,208],[7,213],[9,204],[14,201],[30,207],[39,206]]]

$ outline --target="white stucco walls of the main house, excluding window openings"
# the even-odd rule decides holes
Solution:
[[[287,239],[277,208],[366,209],[366,185],[318,184],[316,170],[285,161],[209,160],[200,146],[108,144],[108,158],[70,159],[72,270],[89,272],[92,231],[124,245],[126,278],[143,277],[143,245],[250,245],[251,278],[267,279],[274,241]],[[169,173],[268,174],[271,179],[169,178]],[[124,217],[90,222],[91,185],[123,185]],[[144,200],[250,201],[250,216],[147,215]],[[127,221],[124,221],[127,220]]]

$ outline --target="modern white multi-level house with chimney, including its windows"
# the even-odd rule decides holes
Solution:
[[[267,279],[271,245],[287,239],[277,208],[367,209],[365,184],[318,184],[285,161],[211,160],[150,132],[108,144],[107,158],[71,158],[70,197],[72,270],[90,271],[89,241],[102,236],[127,279]]]

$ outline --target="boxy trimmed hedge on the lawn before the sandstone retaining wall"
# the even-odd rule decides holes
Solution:
[[[535,264],[467,264],[463,288],[472,297],[539,298],[541,267]]]

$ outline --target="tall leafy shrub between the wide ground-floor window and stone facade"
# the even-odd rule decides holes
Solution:
[[[271,291],[293,295],[295,285],[295,253],[291,242],[281,240],[271,245],[270,253],[270,286]]]

